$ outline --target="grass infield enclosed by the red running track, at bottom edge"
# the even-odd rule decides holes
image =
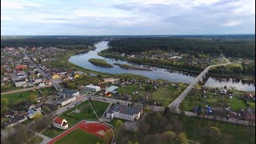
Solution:
[[[97,142],[103,143],[102,138],[97,137],[94,134],[87,133],[84,130],[76,129],[67,134],[65,137],[59,139],[55,144],[95,144]]]

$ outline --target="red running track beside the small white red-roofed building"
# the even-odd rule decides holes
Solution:
[[[48,142],[47,144],[53,144],[54,142],[57,142],[59,139],[63,138],[66,134],[69,134],[71,131],[80,128],[81,130],[84,130],[90,134],[94,134],[100,138],[103,138],[101,134],[97,134],[99,130],[110,130],[109,126],[106,126],[102,123],[86,123],[85,121],[79,122],[77,125],[71,127],[70,129],[66,130],[62,134],[59,134],[56,138]]]

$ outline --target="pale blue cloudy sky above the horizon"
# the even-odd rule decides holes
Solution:
[[[1,0],[1,35],[255,34],[254,0]]]

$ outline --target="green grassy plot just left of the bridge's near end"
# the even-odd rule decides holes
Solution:
[[[173,86],[159,87],[158,90],[153,92],[152,98],[157,102],[163,103],[163,105],[168,106],[170,102],[173,102],[182,90],[176,89]]]

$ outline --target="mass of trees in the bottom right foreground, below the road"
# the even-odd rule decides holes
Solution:
[[[196,121],[197,123],[195,123]],[[192,125],[193,122],[194,125]],[[118,122],[116,122],[118,123]],[[120,122],[121,123],[121,122]],[[139,143],[139,144],[167,144],[167,143],[230,143],[233,142],[233,135],[222,133],[219,125],[222,122],[211,123],[204,119],[190,121],[186,116],[177,116],[170,113],[167,108],[162,113],[154,112],[146,115],[146,118],[134,131],[118,128],[118,143]],[[118,124],[118,126],[121,124]],[[122,125],[121,125],[122,126]],[[220,126],[220,128],[218,128]],[[224,126],[225,127],[225,126]],[[234,130],[234,127],[232,127]],[[189,129],[189,130],[188,130]],[[227,129],[226,127],[223,128]],[[230,129],[230,128],[228,128]],[[228,130],[230,131],[230,130]],[[250,127],[242,126],[244,133],[252,133]],[[233,133],[234,134],[234,133]],[[191,138],[191,139],[190,139]],[[195,141],[195,142],[194,142]],[[244,141],[246,142],[246,141]]]

